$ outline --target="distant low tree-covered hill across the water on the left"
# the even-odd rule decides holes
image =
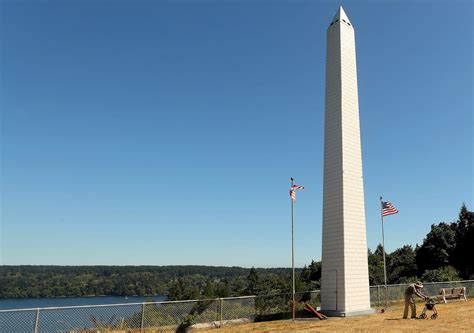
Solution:
[[[289,268],[258,268],[278,277]],[[0,298],[86,295],[168,295],[178,281],[225,290],[244,281],[250,268],[218,266],[0,266]],[[221,289],[222,289],[221,288]],[[232,288],[230,288],[232,289]],[[235,289],[235,288],[233,288]],[[235,294],[237,290],[234,290]],[[230,291],[224,292],[229,294]],[[192,295],[190,295],[192,296]]]

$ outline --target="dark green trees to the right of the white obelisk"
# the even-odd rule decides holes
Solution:
[[[421,246],[386,253],[387,283],[474,279],[474,212],[462,205],[458,219],[431,225]],[[382,246],[369,250],[371,285],[383,284]]]

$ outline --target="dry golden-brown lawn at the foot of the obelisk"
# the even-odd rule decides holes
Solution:
[[[417,315],[424,303],[417,303]],[[438,319],[402,319],[403,304],[390,306],[385,313],[328,320],[278,320],[227,326],[220,329],[193,330],[193,332],[474,332],[474,299],[436,304]]]

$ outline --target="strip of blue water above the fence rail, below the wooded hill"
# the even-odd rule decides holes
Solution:
[[[56,297],[56,298],[18,298],[0,299],[0,310],[47,308],[74,305],[101,305],[142,303],[145,301],[161,302],[166,296],[90,296],[90,297]]]

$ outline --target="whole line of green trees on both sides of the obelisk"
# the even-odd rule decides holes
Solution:
[[[386,253],[387,283],[474,279],[474,213],[433,224],[423,243]],[[369,282],[383,284],[382,246],[368,250]],[[296,270],[296,290],[320,287],[321,262]],[[169,300],[291,290],[290,268],[223,266],[0,266],[0,298],[166,295]]]

